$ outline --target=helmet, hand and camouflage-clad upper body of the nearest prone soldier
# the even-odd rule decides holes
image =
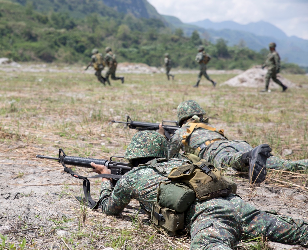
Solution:
[[[154,131],[140,131],[131,139],[124,158],[129,160],[132,170],[124,174],[112,186],[110,179],[103,178],[101,184],[101,207],[105,214],[117,215],[131,199],[137,199],[147,213],[157,200],[156,189],[161,181],[169,181],[166,176],[175,166],[185,163],[185,159],[168,159],[166,139]],[[110,174],[104,165],[91,163],[93,171]],[[111,191],[113,189],[113,191]]]

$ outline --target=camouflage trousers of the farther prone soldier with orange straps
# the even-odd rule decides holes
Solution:
[[[247,165],[241,162],[242,155],[252,149],[253,147],[245,141],[216,141],[207,146],[203,159],[213,163],[215,167],[234,167],[243,171]],[[266,168],[289,171],[307,170],[308,159],[290,161],[271,156],[266,161]]]

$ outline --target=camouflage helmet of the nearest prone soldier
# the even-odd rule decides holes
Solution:
[[[124,158],[128,160],[154,157],[167,158],[168,147],[166,139],[154,131],[139,131],[131,139]]]

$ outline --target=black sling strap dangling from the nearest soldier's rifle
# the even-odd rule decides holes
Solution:
[[[84,189],[84,197],[87,199],[87,204],[91,209],[97,209],[101,205],[101,200],[100,199],[98,202],[95,202],[92,197],[91,197],[91,190],[90,190],[90,181],[88,180],[89,178],[116,178],[119,179],[121,175],[110,175],[110,174],[99,174],[99,175],[94,175],[91,177],[84,177],[81,175],[75,174],[71,168],[66,167],[64,163],[61,163],[62,166],[64,167],[64,172],[72,175],[73,177],[84,180],[83,182],[83,189]]]

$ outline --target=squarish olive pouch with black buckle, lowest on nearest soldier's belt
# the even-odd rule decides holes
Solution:
[[[184,213],[176,213],[175,210],[164,208],[153,203],[151,220],[166,235],[172,237],[176,231],[184,228]]]

